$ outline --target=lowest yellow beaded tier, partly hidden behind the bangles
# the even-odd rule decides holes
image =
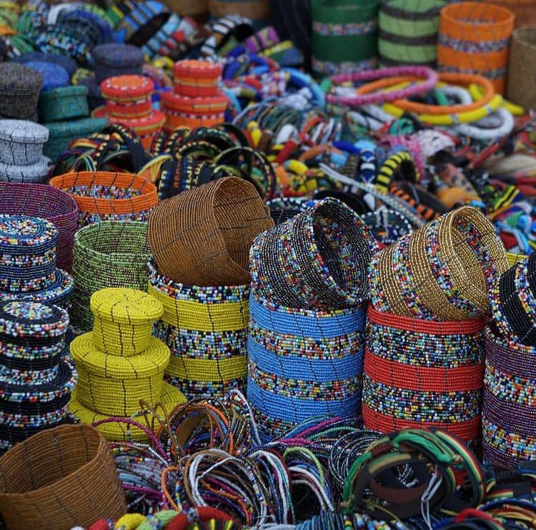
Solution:
[[[182,405],[186,403],[186,396],[182,394],[181,391],[176,389],[174,386],[164,383],[162,386],[162,394],[160,395],[158,401],[162,403],[164,409],[167,411],[172,411],[177,405]],[[138,404],[139,410],[139,404]],[[104,419],[109,419],[112,416],[106,416],[106,414],[99,414],[98,412],[88,409],[86,406],[82,405],[78,399],[78,392],[74,389],[74,392],[71,396],[71,402],[69,403],[69,412],[74,414],[81,423],[83,424],[94,424],[96,421],[101,421]],[[153,416],[150,413],[147,413],[147,422],[151,424]],[[127,419],[126,417],[124,419]],[[140,424],[146,424],[146,419],[143,417],[136,418]],[[156,422],[155,429],[158,429],[158,422]],[[147,443],[149,438],[147,433],[142,431],[136,426],[129,426],[124,421],[110,421],[104,424],[96,426],[101,434],[108,441],[138,441],[142,443]]]

